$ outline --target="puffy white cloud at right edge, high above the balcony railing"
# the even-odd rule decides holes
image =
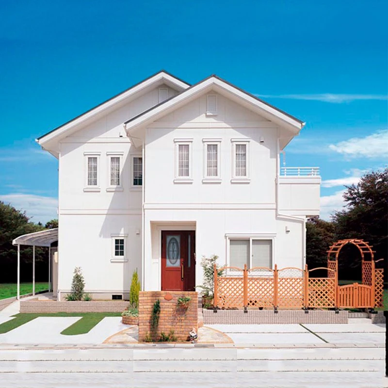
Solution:
[[[353,137],[349,140],[329,145],[348,158],[386,158],[388,156],[388,129],[379,130],[365,137]]]

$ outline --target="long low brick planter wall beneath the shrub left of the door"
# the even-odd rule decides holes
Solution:
[[[21,300],[20,312],[122,312],[128,305],[129,302],[126,301],[57,302],[46,300]]]

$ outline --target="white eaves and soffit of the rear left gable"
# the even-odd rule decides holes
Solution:
[[[102,115],[119,108],[121,104],[127,103],[131,101],[131,99],[139,97],[139,94],[146,93],[146,91],[150,90],[150,88],[162,84],[170,86],[178,92],[190,87],[190,84],[179,80],[165,71],[160,71],[146,80],[130,87],[124,92],[97,105],[89,111],[82,113],[62,126],[51,130],[45,135],[39,137],[36,141],[43,149],[47,149],[54,156],[57,156],[57,153],[55,152],[55,143],[57,143],[60,139],[80,130],[84,125],[89,124]]]

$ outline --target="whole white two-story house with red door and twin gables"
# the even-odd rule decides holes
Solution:
[[[54,294],[80,266],[94,298],[194,290],[202,256],[303,268],[316,167],[281,154],[304,123],[217,76],[161,71],[40,137],[59,161]]]

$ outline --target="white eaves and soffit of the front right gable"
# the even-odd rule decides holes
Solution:
[[[232,101],[244,106],[245,108],[259,114],[260,116],[274,122],[279,127],[287,129],[293,136],[297,135],[304,127],[305,123],[301,120],[285,113],[272,105],[244,92],[243,90],[231,85],[230,83],[216,77],[211,76],[204,81],[201,81],[175,97],[172,97],[159,105],[140,113],[124,123],[124,127],[130,138],[132,130],[138,130],[146,127],[150,123],[162,118],[164,115],[173,112],[182,107],[188,102],[214,91]]]

